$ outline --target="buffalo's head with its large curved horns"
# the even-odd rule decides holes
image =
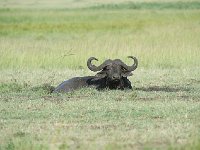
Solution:
[[[96,74],[97,77],[106,78],[109,82],[119,82],[122,78],[131,76],[131,72],[134,71],[138,66],[138,60],[135,57],[128,56],[128,58],[134,60],[133,65],[128,66],[120,59],[108,59],[101,65],[95,66],[91,62],[92,60],[98,61],[98,59],[95,57],[90,57],[87,61],[87,66],[91,71],[100,71]]]

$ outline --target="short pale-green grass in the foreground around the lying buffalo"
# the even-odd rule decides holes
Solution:
[[[199,73],[199,69],[138,69],[130,78],[133,91],[82,89],[52,95],[44,84],[91,73],[1,71],[1,147],[197,149]]]

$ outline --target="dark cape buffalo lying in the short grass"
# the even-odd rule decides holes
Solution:
[[[104,61],[101,65],[95,66],[92,60],[98,61],[95,57],[90,57],[87,61],[87,66],[91,71],[97,72],[95,76],[75,77],[62,82],[53,91],[54,93],[66,93],[82,87],[94,87],[97,90],[101,89],[132,89],[131,82],[127,79],[132,75],[138,66],[138,60],[133,56],[128,56],[134,60],[133,65],[128,66],[120,59]]]

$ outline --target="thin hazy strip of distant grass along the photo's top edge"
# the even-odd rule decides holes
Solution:
[[[125,4],[124,4],[125,3]],[[129,4],[130,6],[127,6]],[[120,5],[120,6],[119,6]],[[134,9],[194,9],[199,8],[198,0],[6,0],[0,1],[0,8],[62,8],[62,9],[82,9],[82,8],[134,8]]]

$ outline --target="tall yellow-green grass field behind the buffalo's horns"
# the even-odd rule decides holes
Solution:
[[[140,67],[200,60],[199,10],[1,9],[0,68],[85,68],[90,56]]]

